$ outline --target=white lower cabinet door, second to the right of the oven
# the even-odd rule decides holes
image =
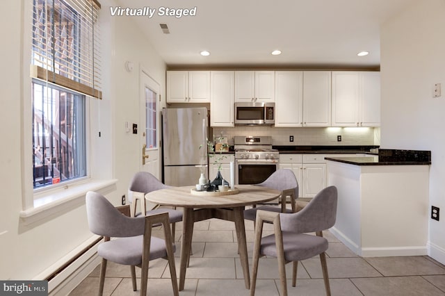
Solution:
[[[303,164],[302,179],[302,197],[314,197],[320,190],[326,187],[326,164]]]

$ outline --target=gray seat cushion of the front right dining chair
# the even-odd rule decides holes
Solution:
[[[300,261],[312,258],[327,250],[325,238],[306,233],[283,231],[284,258],[286,261]],[[275,234],[261,238],[260,254],[277,257]]]

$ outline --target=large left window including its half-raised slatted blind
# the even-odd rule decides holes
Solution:
[[[86,99],[102,99],[96,0],[33,0],[33,188],[87,176]]]

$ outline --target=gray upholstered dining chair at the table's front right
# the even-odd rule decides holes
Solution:
[[[287,295],[286,270],[284,265],[293,262],[292,286],[296,286],[298,261],[320,255],[326,295],[331,295],[327,274],[325,251],[328,242],[322,231],[334,226],[337,216],[337,188],[324,188],[305,208],[297,213],[273,213],[258,211],[255,225],[252,281],[250,295],[255,293],[259,256],[278,259],[282,295]],[[264,222],[273,222],[274,234],[261,238]],[[316,232],[316,236],[307,234]]]

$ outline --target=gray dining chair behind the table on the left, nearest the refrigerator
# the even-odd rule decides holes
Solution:
[[[128,200],[131,203],[131,216],[133,217],[140,215],[136,213],[138,203],[140,203],[140,211],[145,213],[145,215],[168,213],[170,223],[172,224],[173,240],[175,240],[175,223],[182,221],[182,211],[174,208],[155,208],[147,211],[145,204],[145,195],[148,192],[169,187],[170,186],[166,186],[149,172],[137,172],[130,182]]]

